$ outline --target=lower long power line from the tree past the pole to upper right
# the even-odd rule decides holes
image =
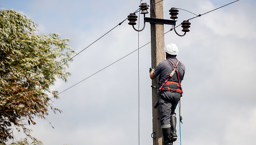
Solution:
[[[163,0],[162,0],[162,1],[163,1]],[[240,0],[237,0],[237,1],[240,1]],[[234,2],[237,2],[237,1],[234,1]],[[232,2],[232,3],[234,3],[234,2]],[[229,4],[232,4],[232,3],[229,3]],[[229,4],[226,4],[226,5],[229,5]],[[223,6],[219,7],[219,8],[214,9],[214,10],[220,9],[220,8],[222,8],[222,7],[226,6],[226,5],[223,5]],[[205,12],[205,13],[204,13],[204,14],[202,14],[202,15],[208,14],[209,12],[212,12],[212,11],[214,11],[214,10],[211,10],[211,11]],[[198,15],[198,16],[196,16],[196,17],[200,17],[200,16],[202,16],[202,15]],[[196,17],[193,17],[193,18],[196,18]],[[190,19],[193,19],[193,18],[190,18]],[[189,19],[189,20],[190,20],[190,19]],[[180,24],[180,25],[181,25],[181,24]],[[180,25],[177,25],[175,28],[177,28],[177,27],[178,27],[178,26],[180,26]],[[170,31],[172,31],[172,30],[173,30],[173,29],[171,28],[169,31],[165,32],[164,34],[167,34],[168,32],[170,32]],[[140,48],[145,47],[145,45],[148,45],[149,43],[151,43],[151,42],[148,42],[148,43],[144,44],[144,45],[143,45],[142,47],[140,47]],[[117,61],[115,61],[115,62],[113,62],[113,63],[111,63],[111,64],[107,65],[105,68],[100,69],[99,71],[97,71],[96,73],[92,74],[91,76],[86,77],[84,80],[82,80],[82,81],[80,81],[80,82],[78,82],[78,83],[76,83],[76,84],[72,85],[71,87],[69,87],[69,88],[67,88],[67,89],[65,89],[65,90],[63,90],[63,91],[61,91],[61,92],[60,92],[59,94],[57,94],[57,95],[60,95],[60,94],[61,94],[61,93],[63,93],[64,91],[67,91],[68,89],[73,88],[75,85],[77,85],[77,84],[79,84],[79,83],[81,83],[81,82],[83,82],[83,81],[87,80],[89,77],[92,77],[92,76],[94,76],[95,74],[98,74],[100,71],[102,71],[102,70],[104,70],[104,69],[106,69],[106,68],[110,67],[110,66],[111,66],[111,65],[113,65],[114,63],[117,63],[118,61],[122,60],[123,58],[125,58],[125,57],[127,57],[127,56],[131,55],[133,52],[135,52],[135,51],[139,50],[140,48],[138,48],[138,49],[136,49],[136,50],[134,50],[134,51],[130,52],[129,54],[125,55],[124,57],[119,58],[119,60],[117,60]]]

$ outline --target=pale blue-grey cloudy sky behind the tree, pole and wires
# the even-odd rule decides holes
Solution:
[[[172,7],[203,14],[230,2],[164,0],[164,18],[169,19]],[[0,9],[14,9],[31,18],[39,25],[37,34],[58,33],[69,38],[69,45],[79,52],[137,10],[139,3],[0,0]],[[240,0],[191,19],[190,32],[184,37],[174,31],[165,34],[165,44],[177,45],[177,58],[186,67],[181,98],[182,144],[255,144],[255,5],[256,1]],[[180,10],[177,23],[191,17],[194,15]],[[138,49],[138,44],[150,42],[150,24],[139,33],[138,42],[138,32],[127,23],[74,57],[67,69],[72,76],[66,83],[57,80],[51,89],[61,92]],[[164,31],[170,28],[164,25]],[[180,27],[177,30],[181,33]],[[30,126],[33,135],[46,145],[152,144],[149,67],[150,44],[61,93],[53,105],[63,113],[36,119],[37,124]],[[24,137],[15,136],[16,140]],[[180,144],[180,138],[174,144]]]

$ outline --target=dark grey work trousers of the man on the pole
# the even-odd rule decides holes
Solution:
[[[159,96],[159,105],[161,110],[161,128],[169,128],[170,117],[176,116],[175,109],[178,101],[180,101],[181,94],[173,91],[161,91]]]

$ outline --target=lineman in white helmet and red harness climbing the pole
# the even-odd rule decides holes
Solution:
[[[164,47],[167,60],[160,62],[156,70],[150,68],[150,78],[158,75],[160,86],[159,104],[161,109],[161,128],[164,143],[172,144],[177,140],[175,109],[182,96],[181,81],[185,73],[185,65],[177,60],[178,48],[176,44],[170,43]]]

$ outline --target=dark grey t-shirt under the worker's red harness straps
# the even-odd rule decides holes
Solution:
[[[168,60],[171,60],[174,64],[177,63],[177,58],[176,57],[169,57]],[[170,61],[164,60],[160,62],[156,70],[153,71],[153,75],[159,76],[159,82],[162,84],[167,78],[170,76],[173,65]],[[178,73],[180,75],[180,80],[183,80],[184,74],[185,74],[185,65],[182,62],[178,63]],[[171,77],[172,82],[178,82],[178,77],[177,77],[177,72]]]

